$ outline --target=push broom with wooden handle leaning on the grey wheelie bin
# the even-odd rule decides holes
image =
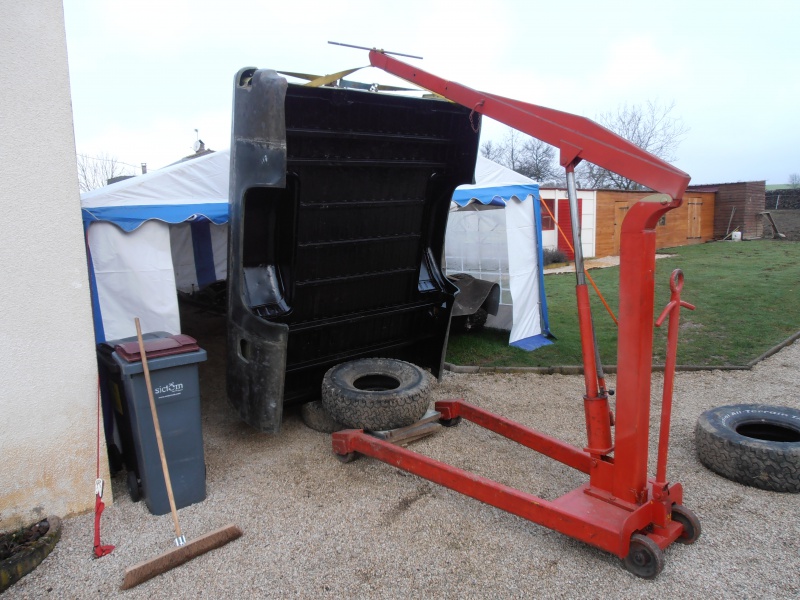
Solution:
[[[125,570],[125,579],[122,582],[123,590],[127,590],[152,579],[156,575],[165,573],[170,569],[182,565],[193,558],[205,554],[210,550],[224,546],[228,542],[235,540],[242,535],[242,530],[236,525],[227,525],[207,533],[196,540],[186,542],[186,538],[181,533],[181,526],[178,523],[178,510],[175,508],[175,496],[172,494],[172,482],[169,478],[169,468],[167,467],[167,457],[164,454],[164,441],[161,439],[161,427],[158,424],[158,411],[156,401],[153,397],[153,386],[150,383],[150,369],[147,366],[147,356],[144,350],[144,340],[142,339],[142,329],[139,319],[136,322],[136,336],[139,340],[139,353],[142,355],[142,369],[144,370],[144,381],[147,387],[147,396],[150,400],[150,412],[153,415],[153,427],[156,431],[156,442],[158,443],[158,454],[161,457],[161,468],[164,471],[164,483],[167,487],[169,497],[169,507],[172,511],[172,522],[175,525],[175,546],[159,556],[139,563]]]

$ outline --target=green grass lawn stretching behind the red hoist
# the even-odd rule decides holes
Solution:
[[[800,330],[800,243],[774,240],[714,242],[667,248],[674,257],[656,261],[655,317],[669,302],[669,277],[680,268],[682,299],[697,307],[681,311],[679,365],[744,365]],[[618,314],[619,267],[590,271]],[[551,346],[525,352],[508,346],[508,333],[484,330],[453,334],[447,361],[458,365],[546,367],[580,365],[574,273],[545,276]],[[617,328],[594,290],[596,336],[603,364],[617,362]],[[666,323],[656,329],[653,363],[663,364]]]

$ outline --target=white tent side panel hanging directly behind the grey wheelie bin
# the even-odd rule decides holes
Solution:
[[[127,233],[112,223],[89,226],[102,339],[135,336],[134,317],[143,331],[180,333],[170,227],[147,221]]]

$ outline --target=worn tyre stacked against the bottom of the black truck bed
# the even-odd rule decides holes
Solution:
[[[393,358],[362,358],[325,373],[322,405],[347,427],[396,429],[423,417],[430,387],[430,376],[417,365]]]

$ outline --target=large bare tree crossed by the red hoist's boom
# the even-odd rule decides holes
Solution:
[[[674,108],[674,102],[661,105],[648,100],[644,106],[623,104],[616,112],[603,113],[597,120],[639,148],[672,162],[676,158],[678,146],[689,131],[679,117],[672,116]],[[631,179],[588,163],[581,163],[576,175],[584,187],[620,190],[644,188]]]

